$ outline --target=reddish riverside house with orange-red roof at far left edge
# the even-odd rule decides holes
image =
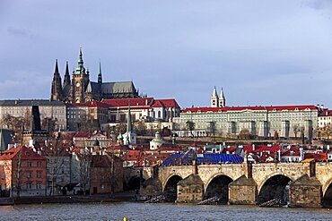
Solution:
[[[13,147],[1,153],[0,166],[1,190],[10,191],[12,197],[46,195],[45,157],[25,146]]]

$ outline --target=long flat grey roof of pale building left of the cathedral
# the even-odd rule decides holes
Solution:
[[[13,99],[0,100],[0,106],[65,106],[65,103],[48,99]]]

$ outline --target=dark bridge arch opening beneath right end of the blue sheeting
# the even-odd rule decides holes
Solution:
[[[218,197],[221,203],[227,203],[229,200],[229,184],[233,179],[226,174],[214,174],[205,185],[204,200]]]

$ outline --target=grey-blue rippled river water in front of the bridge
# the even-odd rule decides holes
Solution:
[[[258,208],[137,202],[1,206],[0,220],[332,220],[328,208]]]

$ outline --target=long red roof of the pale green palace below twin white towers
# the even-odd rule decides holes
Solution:
[[[184,109],[183,113],[194,112],[228,112],[228,111],[244,111],[244,110],[254,110],[254,111],[294,111],[294,110],[305,110],[309,108],[310,110],[317,110],[317,106],[226,106],[226,107],[189,107]]]

